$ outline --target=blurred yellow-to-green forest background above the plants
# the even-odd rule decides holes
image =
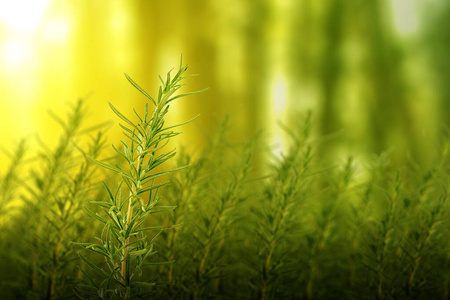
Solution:
[[[201,115],[183,128],[189,149],[225,115],[232,140],[264,130],[282,149],[277,121],[312,111],[324,155],[427,164],[450,115],[449,50],[445,0],[0,1],[0,142],[52,145],[47,111],[77,98],[93,124],[117,121],[108,101],[132,115],[145,98],[123,73],[155,95],[182,54],[200,74],[183,91],[209,87],[172,107],[171,122]]]

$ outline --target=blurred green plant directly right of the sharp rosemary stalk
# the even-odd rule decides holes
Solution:
[[[177,209],[166,215],[160,215],[161,222],[179,223],[183,226],[176,230],[161,234],[158,246],[162,259],[177,258],[176,264],[168,268],[160,268],[161,277],[174,280],[167,291],[161,290],[160,297],[178,299],[186,294],[194,294],[198,281],[204,281],[203,276],[192,276],[198,270],[200,256],[204,251],[202,238],[206,236],[203,222],[215,218],[215,202],[212,195],[222,193],[223,180],[218,180],[218,174],[228,170],[223,164],[228,161],[225,137],[228,132],[227,120],[223,121],[219,130],[201,154],[193,157],[185,149],[180,151],[177,166],[189,164],[190,167],[177,173],[170,174],[171,184],[164,190],[164,198],[168,204],[177,206]],[[223,177],[221,179],[226,179]],[[201,203],[201,205],[200,205]],[[166,217],[166,218],[164,218]],[[202,226],[203,225],[203,226]],[[200,239],[198,236],[201,236]],[[197,283],[197,284],[196,284]],[[207,290],[204,287],[202,290]],[[198,291],[197,291],[198,292]]]

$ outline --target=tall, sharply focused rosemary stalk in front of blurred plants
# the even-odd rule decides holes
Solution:
[[[90,283],[87,286],[79,286],[77,294],[81,298],[130,299],[153,293],[153,287],[157,281],[142,275],[145,267],[171,263],[149,263],[147,259],[156,253],[153,251],[153,240],[164,229],[172,228],[175,225],[148,227],[147,221],[152,214],[175,209],[174,206],[157,206],[160,200],[158,191],[168,184],[168,181],[161,183],[159,180],[160,177],[184,167],[159,172],[156,172],[155,169],[175,156],[175,149],[161,153],[169,139],[179,134],[173,129],[190,122],[167,127],[164,119],[172,101],[198,93],[175,95],[175,92],[182,86],[181,80],[186,78],[186,76],[183,77],[186,70],[187,66],[183,67],[180,64],[180,68],[173,78],[171,72],[167,73],[165,81],[160,77],[162,86],[159,88],[156,100],[125,74],[128,81],[155,106],[153,112],[150,113],[147,103],[143,116],[135,110],[139,119],[137,123],[125,117],[110,103],[113,112],[124,122],[119,125],[124,130],[127,141],[121,141],[123,149],[119,150],[114,146],[113,148],[125,160],[126,168],[122,168],[118,164],[111,166],[90,158],[101,167],[119,174],[121,182],[114,193],[104,183],[107,199],[91,201],[103,208],[106,218],[85,207],[89,215],[104,224],[104,228],[99,238],[100,244],[80,243],[80,245],[103,256],[108,271],[80,254],[80,258],[86,265],[101,277],[100,283],[97,283],[91,275],[80,269]],[[124,189],[127,192],[124,193],[126,196],[123,196],[122,193]],[[144,200],[144,196],[147,196],[147,200]],[[152,233],[150,239],[147,238],[147,234],[154,231],[156,233]]]

